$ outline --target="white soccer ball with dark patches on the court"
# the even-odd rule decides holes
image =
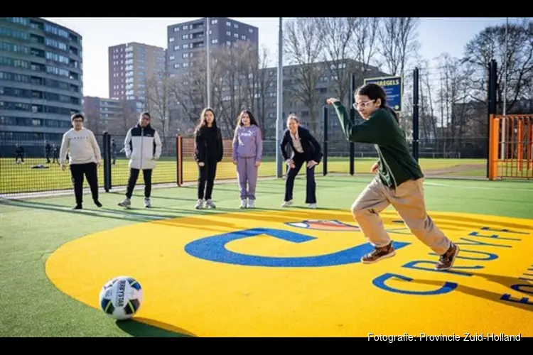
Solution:
[[[107,281],[100,291],[100,307],[115,320],[133,317],[143,302],[141,284],[129,276]]]

